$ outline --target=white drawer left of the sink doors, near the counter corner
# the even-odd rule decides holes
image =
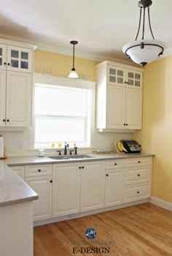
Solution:
[[[52,165],[26,165],[26,177],[52,175]]]

